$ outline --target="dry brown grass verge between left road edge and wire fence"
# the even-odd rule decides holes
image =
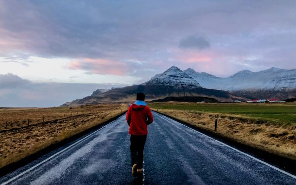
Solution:
[[[72,109],[81,108],[82,107],[79,106]],[[96,109],[97,111],[73,115],[26,127],[2,130],[0,132],[0,168],[106,122],[126,111],[128,106],[100,105],[85,107],[85,109],[90,108]],[[50,109],[52,108],[48,108],[49,111]],[[27,114],[25,113],[23,116],[27,116]]]

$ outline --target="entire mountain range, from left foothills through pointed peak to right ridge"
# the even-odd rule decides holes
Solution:
[[[190,68],[182,71],[172,66],[145,83],[112,88],[105,92],[98,89],[91,96],[67,102],[62,106],[127,103],[134,101],[138,92],[145,93],[147,101],[166,97],[206,97],[220,102],[264,98],[285,100],[296,98],[296,69],[270,68],[261,72],[244,70],[222,78],[198,73]]]

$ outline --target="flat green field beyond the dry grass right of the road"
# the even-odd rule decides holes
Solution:
[[[152,103],[152,109],[174,109],[231,114],[256,118],[278,124],[296,124],[295,104],[199,104],[199,103]]]

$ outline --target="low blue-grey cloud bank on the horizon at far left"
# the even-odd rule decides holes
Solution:
[[[90,96],[96,89],[126,84],[34,83],[14,74],[0,74],[0,107],[54,107]]]

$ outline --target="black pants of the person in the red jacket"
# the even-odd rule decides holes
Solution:
[[[143,168],[144,146],[147,135],[131,135],[131,160],[132,166],[138,164],[138,168]]]

